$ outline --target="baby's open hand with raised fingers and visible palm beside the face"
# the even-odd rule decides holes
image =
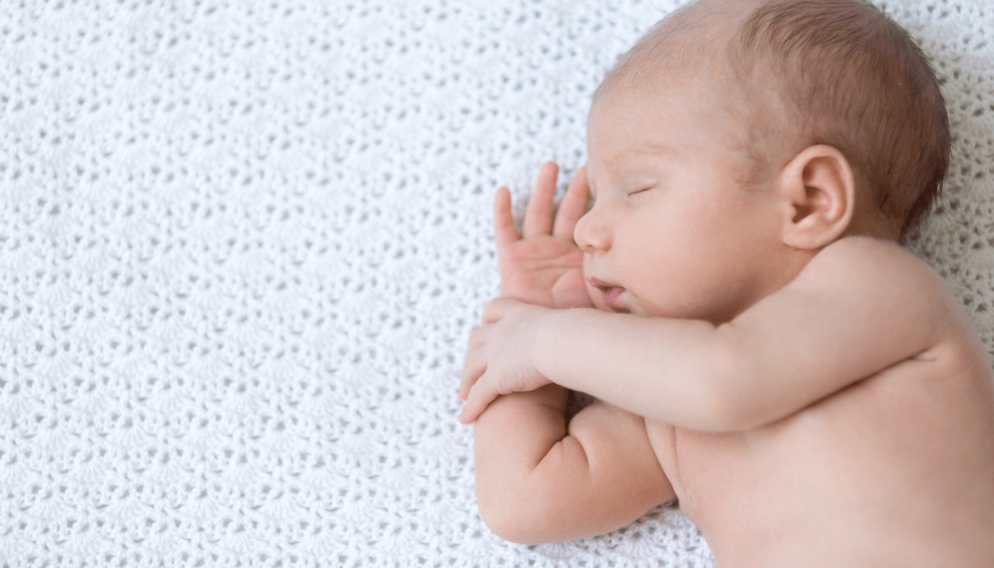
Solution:
[[[583,254],[573,240],[577,221],[586,212],[589,187],[586,168],[570,183],[553,223],[553,198],[559,166],[546,162],[528,201],[522,235],[514,226],[511,192],[502,187],[494,200],[494,241],[500,268],[501,295],[547,307],[592,305],[583,282]]]

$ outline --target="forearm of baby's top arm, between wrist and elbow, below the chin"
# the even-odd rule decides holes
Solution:
[[[716,378],[729,356],[707,322],[566,309],[544,322],[532,354],[554,383],[646,418],[722,430]]]

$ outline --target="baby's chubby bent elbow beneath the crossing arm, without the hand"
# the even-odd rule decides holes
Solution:
[[[672,499],[644,420],[595,402],[567,427],[559,385],[499,397],[476,421],[480,515],[533,544],[620,528]]]

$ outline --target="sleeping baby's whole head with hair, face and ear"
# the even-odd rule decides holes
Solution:
[[[713,321],[840,237],[904,242],[949,161],[928,63],[854,0],[686,6],[608,73],[588,127],[594,302]]]

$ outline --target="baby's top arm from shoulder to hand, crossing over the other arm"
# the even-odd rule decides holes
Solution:
[[[911,253],[851,237],[718,326],[495,300],[484,313],[489,325],[471,338],[477,346],[464,367],[462,420],[494,392],[552,381],[674,426],[747,430],[927,358],[948,320],[948,297]]]

